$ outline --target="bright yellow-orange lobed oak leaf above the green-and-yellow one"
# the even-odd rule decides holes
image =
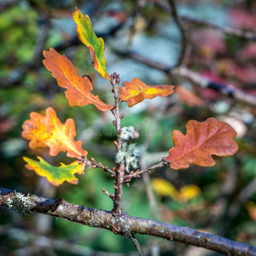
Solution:
[[[49,154],[55,156],[60,151],[67,152],[68,157],[87,155],[82,148],[82,142],[76,142],[75,124],[73,119],[67,119],[63,125],[53,108],[47,108],[45,116],[32,112],[31,119],[22,125],[22,137],[30,140],[30,148],[49,148]]]

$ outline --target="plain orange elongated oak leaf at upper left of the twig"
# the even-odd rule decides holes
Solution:
[[[94,104],[96,108],[107,111],[113,106],[102,102],[99,96],[93,95],[90,79],[79,76],[78,70],[66,55],[60,55],[55,49],[44,50],[44,66],[51,72],[57,83],[66,88],[65,95],[70,106],[86,106]]]

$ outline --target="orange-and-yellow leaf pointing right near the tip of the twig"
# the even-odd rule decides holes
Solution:
[[[154,99],[156,96],[168,96],[172,94],[173,85],[154,85],[149,86],[140,79],[132,79],[131,82],[124,82],[123,87],[119,88],[119,99],[126,102],[128,107],[132,107],[144,99]]]

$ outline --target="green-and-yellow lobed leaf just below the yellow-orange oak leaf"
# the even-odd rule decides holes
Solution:
[[[77,184],[79,180],[74,176],[75,173],[82,174],[84,172],[84,164],[79,164],[79,161],[76,160],[70,165],[65,165],[61,163],[61,166],[51,166],[43,158],[38,156],[38,160],[32,160],[27,157],[23,157],[23,160],[26,161],[26,168],[28,170],[33,170],[39,176],[46,177],[49,183],[52,183],[54,186],[59,186],[64,181],[68,183]]]

